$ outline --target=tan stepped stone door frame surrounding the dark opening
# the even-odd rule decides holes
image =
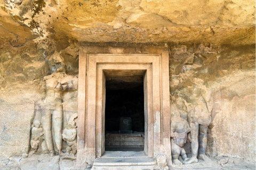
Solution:
[[[81,47],[79,49],[77,163],[105,152],[106,80],[143,77],[143,153],[162,152],[171,164],[169,51],[166,47]]]

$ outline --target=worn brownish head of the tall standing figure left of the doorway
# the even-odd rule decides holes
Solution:
[[[60,54],[53,54],[49,61],[49,67],[50,67],[50,70],[51,70],[51,73],[54,73],[54,72],[65,72],[66,69],[65,69],[65,63],[63,62],[63,58],[60,56]]]

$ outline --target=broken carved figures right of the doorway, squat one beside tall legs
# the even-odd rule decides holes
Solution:
[[[171,149],[175,165],[197,163],[198,159],[207,159],[207,129],[211,124],[210,95],[202,80],[194,81],[195,84],[186,100],[182,97],[173,98],[175,102],[171,107]],[[182,148],[187,138],[190,142],[190,158]],[[179,159],[179,156],[182,159]]]

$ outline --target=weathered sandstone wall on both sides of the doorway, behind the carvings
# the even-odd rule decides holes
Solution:
[[[35,102],[44,99],[43,77],[50,74],[47,61],[56,48],[41,42],[0,49],[1,159],[22,155],[28,145]],[[77,75],[78,46],[69,41],[58,48],[67,74]],[[170,45],[170,98],[182,117],[194,88],[212,115],[207,154],[255,162],[255,46]],[[65,99],[75,103],[76,92]],[[69,108],[63,105],[64,112],[77,109]]]

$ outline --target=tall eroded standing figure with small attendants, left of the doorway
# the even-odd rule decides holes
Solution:
[[[66,74],[65,63],[59,55],[53,55],[49,59],[49,66],[51,74],[44,77],[43,83],[45,86],[45,99],[41,101],[43,109],[40,113],[36,112],[30,145],[36,152],[37,143],[43,136],[45,142],[43,144],[50,155],[54,156],[55,153],[62,155],[62,142],[65,140],[67,141],[66,151],[70,154],[72,150],[74,155],[76,154],[75,118],[77,113],[67,115],[63,112],[63,95],[67,91],[77,90],[77,77]],[[67,121],[68,118],[69,121]]]

